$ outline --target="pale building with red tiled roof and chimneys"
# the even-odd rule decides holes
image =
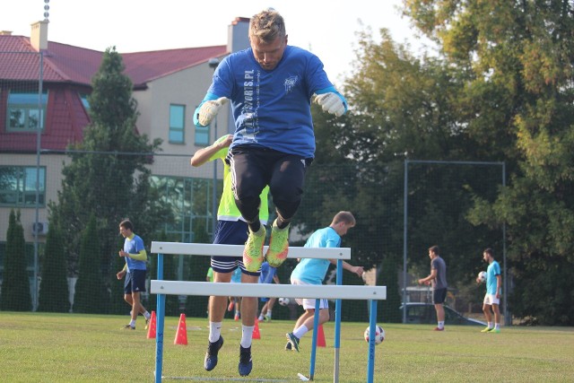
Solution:
[[[211,83],[209,60],[248,48],[248,19],[231,22],[228,37],[221,46],[121,54],[134,84],[136,128],[150,140],[161,138],[161,152],[172,156],[154,157],[152,174],[161,182],[213,176],[213,168],[189,166],[189,157],[217,138],[210,127],[196,129],[192,114]],[[82,141],[90,123],[87,95],[102,56],[100,51],[49,41],[48,21],[32,24],[30,38],[0,31],[0,216],[6,217],[0,220],[0,242],[5,241],[13,208],[21,210],[27,241],[34,239],[33,226],[46,233],[42,225],[34,225],[37,169],[39,222],[44,224],[46,205],[57,200],[61,170],[69,161],[65,149]],[[222,111],[219,135],[232,130],[230,118],[229,110]],[[182,229],[182,239],[189,239],[189,231]]]

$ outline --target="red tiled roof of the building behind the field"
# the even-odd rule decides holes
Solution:
[[[227,53],[226,46],[181,48],[122,54],[126,74],[135,87],[167,74]],[[89,118],[83,109],[78,92],[91,86],[91,78],[98,71],[103,52],[73,47],[48,41],[43,55],[43,78],[49,89],[49,109],[46,130],[42,133],[42,147],[65,149],[67,144],[81,141],[83,127]],[[37,82],[39,55],[30,46],[30,39],[22,36],[0,35],[0,82]],[[0,119],[5,118],[6,93],[0,92]],[[3,124],[0,124],[0,126]],[[0,130],[0,152],[35,152],[35,133],[13,133]]]

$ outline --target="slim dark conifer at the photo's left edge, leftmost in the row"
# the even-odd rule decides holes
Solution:
[[[26,242],[20,222],[20,211],[10,211],[6,232],[6,254],[4,256],[4,279],[0,294],[0,309],[3,311],[30,311],[32,300],[30,280],[26,271]]]

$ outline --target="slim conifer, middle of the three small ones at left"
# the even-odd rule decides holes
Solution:
[[[68,312],[70,310],[67,265],[62,231],[57,224],[49,227],[42,264],[39,289],[39,311]]]

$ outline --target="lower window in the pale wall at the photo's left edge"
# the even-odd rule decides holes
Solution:
[[[0,166],[0,206],[36,206],[36,168]],[[39,205],[46,204],[46,168],[39,168]]]

